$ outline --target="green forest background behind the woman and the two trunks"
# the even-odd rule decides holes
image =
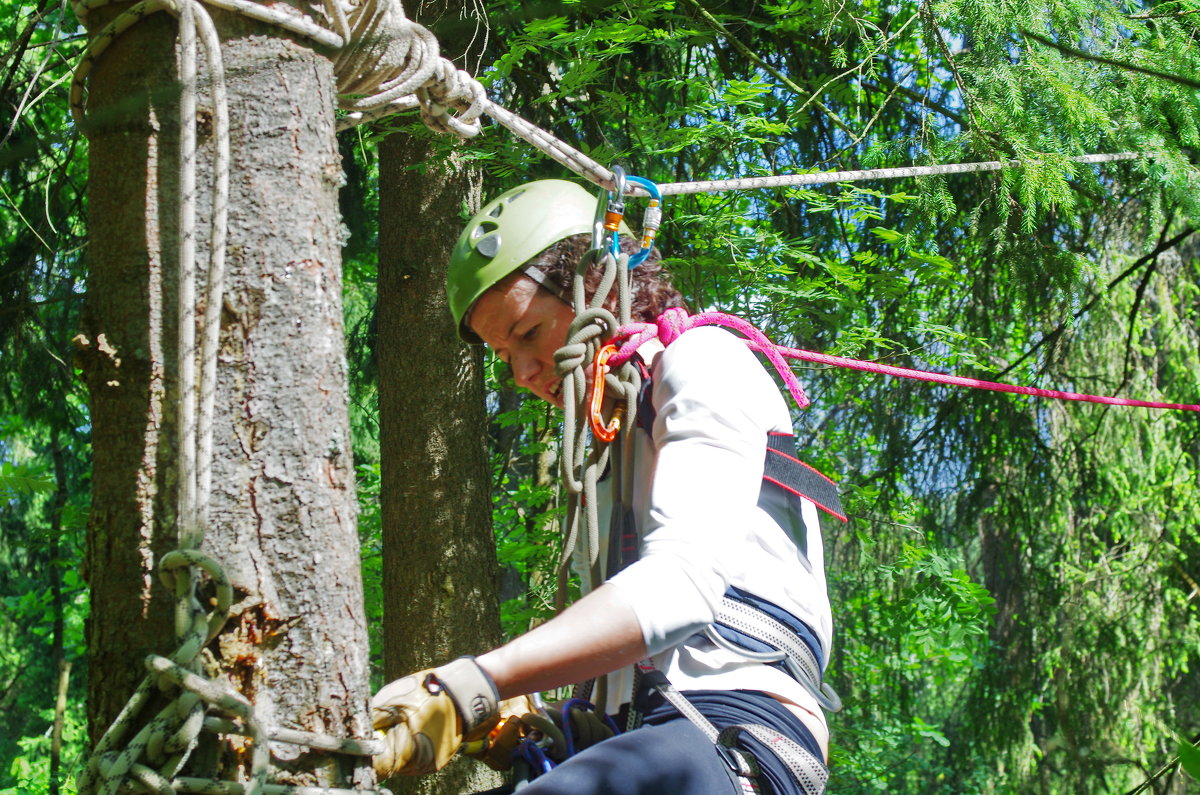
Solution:
[[[493,0],[406,11],[502,104],[659,181],[1025,161],[995,174],[670,198],[694,309],[786,345],[1046,388],[1196,402],[1195,0]],[[426,14],[422,17],[422,13]],[[86,143],[66,2],[0,2],[0,793],[73,791],[86,754]],[[340,133],[362,572],[379,682],[380,142]],[[491,127],[484,193],[570,177]],[[1133,151],[1133,161],[1067,157]],[[409,163],[422,169],[425,163]],[[638,203],[631,202],[635,221]],[[466,199],[463,204],[466,215]],[[96,220],[92,219],[95,223]],[[492,363],[494,364],[494,363]],[[547,615],[560,417],[490,366],[503,632]],[[804,458],[836,473],[835,793],[1186,791],[1200,767],[1200,426],[799,369]],[[1190,782],[1195,785],[1195,782]]]

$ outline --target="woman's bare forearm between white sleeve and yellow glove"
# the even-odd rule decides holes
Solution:
[[[614,587],[602,585],[560,616],[475,662],[506,699],[582,682],[644,657],[632,608]]]

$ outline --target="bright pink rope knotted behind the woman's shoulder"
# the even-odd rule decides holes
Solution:
[[[756,351],[766,355],[767,359],[775,366],[775,371],[779,372],[779,376],[787,385],[787,390],[792,393],[796,405],[800,408],[809,405],[809,399],[804,395],[804,390],[800,388],[800,382],[796,378],[796,373],[792,372],[792,369],[784,360],[785,357],[788,359],[800,359],[802,361],[827,364],[834,367],[847,367],[850,370],[862,370],[864,372],[896,376],[899,378],[914,378],[917,381],[930,381],[934,383],[953,384],[955,387],[972,387],[974,389],[989,389],[991,391],[1008,391],[1018,395],[1036,395],[1038,398],[1054,398],[1056,400],[1078,400],[1090,404],[1104,404],[1106,406],[1141,406],[1142,408],[1176,408],[1180,411],[1200,412],[1200,405],[1194,404],[1160,404],[1148,400],[1130,400],[1128,398],[1085,395],[1078,391],[1060,391],[1058,389],[1019,387],[1016,384],[1006,384],[995,381],[980,381],[979,378],[965,378],[962,376],[947,376],[940,372],[926,372],[924,370],[910,370],[908,367],[894,367],[892,365],[878,364],[876,361],[863,361],[860,359],[834,357],[827,353],[815,353],[812,351],[803,351],[800,348],[786,348],[781,345],[772,342],[767,339],[766,334],[740,317],[725,315],[724,312],[703,312],[701,315],[689,316],[688,312],[682,309],[668,309],[655,323],[630,323],[629,325],[623,325],[617,329],[617,335],[613,337],[613,341],[622,341],[622,343],[617,353],[608,358],[608,364],[616,367],[625,361],[629,361],[630,357],[634,355],[634,352],[649,340],[658,337],[664,346],[667,346],[679,339],[679,335],[688,329],[698,328],[701,325],[724,325],[743,334],[746,337],[744,340],[746,346],[751,351]]]

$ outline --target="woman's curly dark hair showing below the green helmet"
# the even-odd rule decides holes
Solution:
[[[590,234],[564,238],[530,259],[517,273],[530,276],[550,292],[566,303],[571,303],[575,269],[590,247]],[[622,252],[632,255],[640,247],[638,238],[628,234],[620,238]],[[631,271],[630,317],[635,322],[653,323],[659,315],[671,307],[686,309],[683,294],[671,283],[671,277],[662,269],[661,261],[662,256],[655,249],[646,262]],[[604,269],[598,262],[588,267],[588,273],[583,277],[583,292],[588,300],[592,300],[595,294],[602,275]],[[604,305],[608,310],[616,311],[616,291],[612,291]]]

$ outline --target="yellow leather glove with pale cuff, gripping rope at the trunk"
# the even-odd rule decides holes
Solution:
[[[494,721],[499,693],[474,657],[384,686],[371,700],[371,723],[384,741],[376,775],[415,776],[444,767],[470,735]]]

